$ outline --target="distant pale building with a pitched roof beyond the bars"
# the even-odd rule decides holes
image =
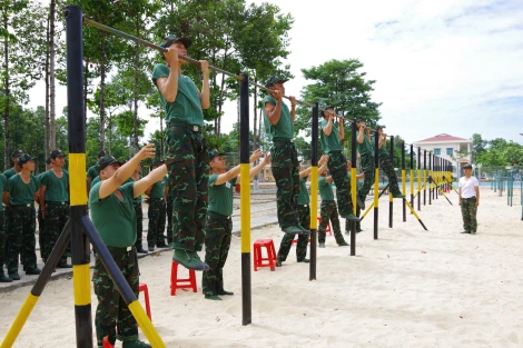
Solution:
[[[414,142],[414,146],[422,149],[422,168],[423,168],[423,150],[432,151],[434,155],[452,162],[453,176],[456,179],[463,173],[462,167],[472,162],[472,140],[453,137],[441,133],[435,137],[423,139]],[[414,150],[417,153],[417,149]],[[428,168],[428,165],[427,165]]]

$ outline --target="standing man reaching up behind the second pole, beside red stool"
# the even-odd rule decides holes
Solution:
[[[240,166],[227,171],[225,167],[224,153],[213,150],[209,152],[210,169],[209,177],[209,208],[205,221],[205,262],[209,265],[208,270],[204,270],[203,288],[206,299],[221,300],[219,295],[234,295],[224,289],[223,269],[230,248],[233,231],[233,192]],[[263,156],[260,150],[254,151],[250,156],[250,163]],[[250,168],[250,178],[256,176],[270,162],[268,153],[256,167]]]

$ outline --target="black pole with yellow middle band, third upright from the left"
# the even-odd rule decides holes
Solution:
[[[316,280],[316,251],[317,238],[316,232],[318,229],[318,103],[314,103],[313,108],[313,153],[310,156],[312,179],[310,179],[310,264],[308,266],[309,276],[308,280]],[[343,127],[343,126],[342,126]]]

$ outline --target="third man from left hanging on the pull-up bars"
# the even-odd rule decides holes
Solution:
[[[342,218],[358,220],[354,216],[353,201],[351,199],[351,180],[347,175],[346,158],[343,155],[342,140],[345,138],[343,116],[338,117],[338,125],[334,121],[336,115],[334,107],[327,107],[324,112],[319,132],[322,150],[328,155],[328,170],[336,185],[336,198],[338,200]]]

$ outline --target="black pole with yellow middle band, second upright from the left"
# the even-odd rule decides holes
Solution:
[[[239,83],[239,162],[241,217],[241,324],[253,322],[250,289],[250,165],[249,165],[249,77]]]

